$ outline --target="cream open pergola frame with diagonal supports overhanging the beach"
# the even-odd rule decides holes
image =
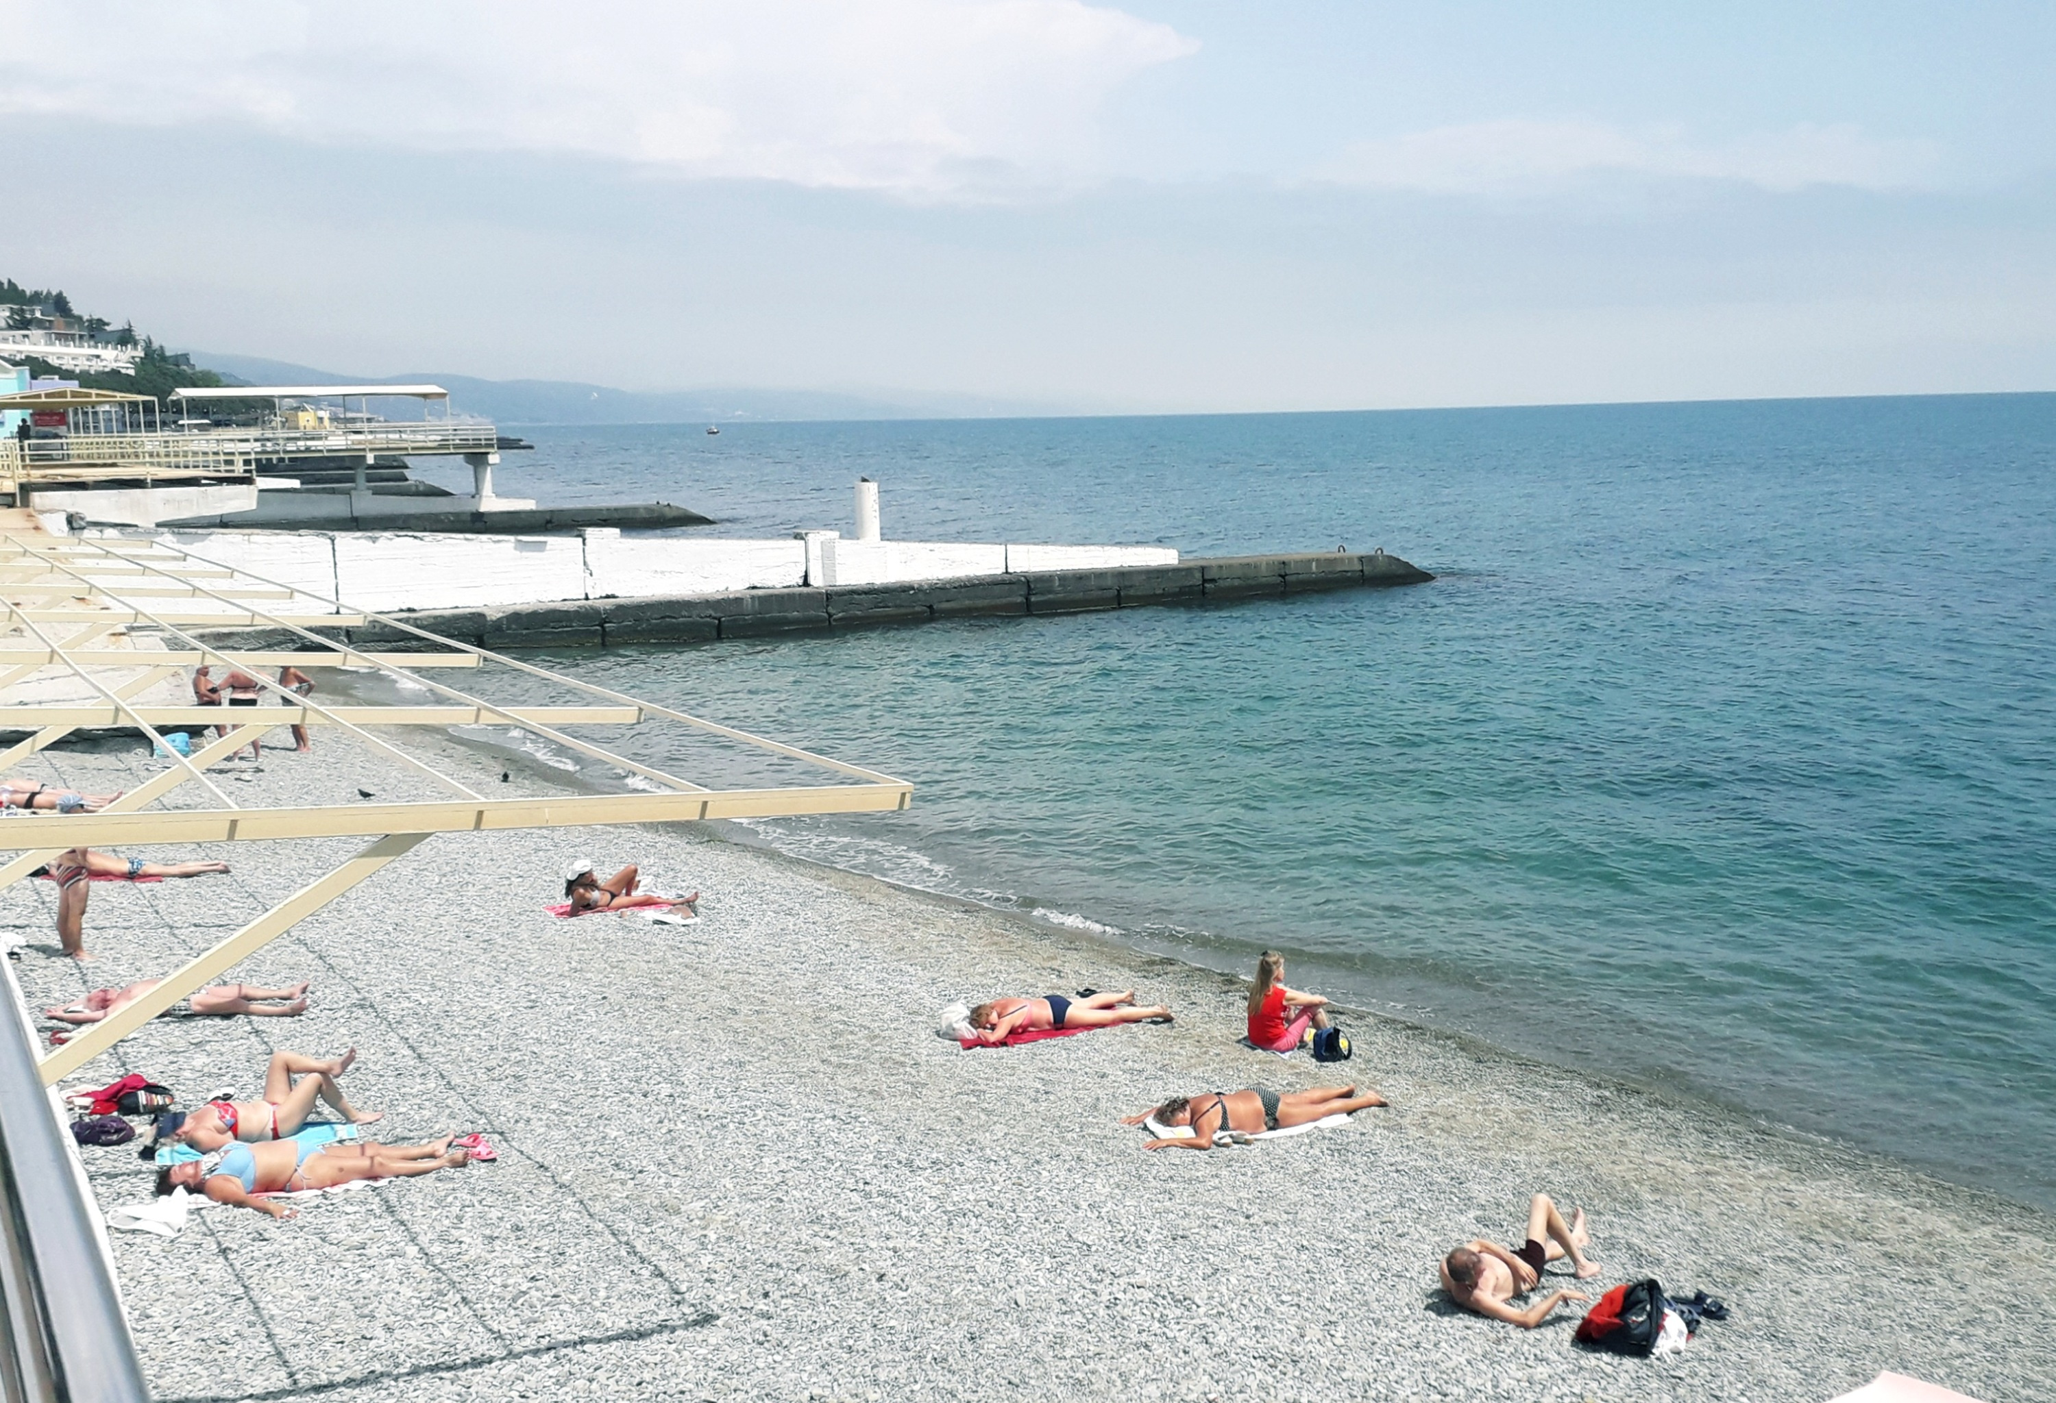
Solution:
[[[220,581],[220,583],[212,583]],[[158,608],[156,598],[210,602],[218,608]],[[53,600],[66,604],[56,606]],[[265,608],[255,600],[282,600]],[[101,1023],[80,1029],[68,1044],[41,1058],[43,1085],[56,1085],[101,1056],[117,1041],[171,1009],[181,998],[218,980],[236,963],[276,941],[306,916],[319,912],[387,863],[405,857],[438,832],[487,832],[502,828],[586,828],[607,824],[654,824],[711,818],[783,818],[798,813],[876,813],[905,809],[913,785],[878,770],[785,746],[781,742],[718,725],[683,711],[623,696],[604,686],[537,668],[415,629],[401,618],[352,612],[323,598],[222,561],[210,561],[162,540],[70,538],[0,534],[0,729],[31,731],[27,740],[0,750],[0,770],[45,750],[80,727],[125,727],[142,731],[154,754],[171,756],[164,770],[127,791],[99,813],[33,813],[0,822],[0,850],[23,850],[0,865],[0,889],[31,875],[68,848],[162,842],[273,842],[292,838],[370,838],[339,867],[306,883],[290,898],[247,922],[206,953],[169,974],[154,990]],[[333,610],[333,612],[329,612]],[[317,629],[347,629],[376,620],[413,635],[436,651],[362,651]],[[53,631],[51,624],[66,629]],[[306,651],[216,649],[197,637],[212,629],[263,629],[300,639]],[[53,637],[66,633],[68,637]],[[152,647],[109,647],[109,637],[150,637]],[[241,666],[276,692],[280,707],[230,711],[226,707],[162,707],[134,698],[164,678],[206,663]],[[288,692],[259,670],[294,666],[372,668],[440,696],[436,705],[327,707]],[[580,692],[574,707],[500,707],[454,686],[421,676],[428,670],[504,666]],[[99,700],[56,705],[8,705],[6,692],[37,674],[62,668],[84,682]],[[107,674],[117,674],[109,678]],[[676,774],[565,735],[563,725],[629,725],[672,721],[701,733],[720,735],[831,770],[841,783],[773,789],[707,789]],[[619,795],[543,795],[485,799],[461,781],[436,770],[366,727],[448,727],[508,725],[592,760],[619,766],[658,789]],[[432,779],[450,793],[438,801],[352,803],[304,807],[243,807],[222,793],[206,766],[228,756],[251,737],[234,729],[199,746],[189,758],[164,744],[158,727],[210,725],[321,725],[339,727],[387,758]],[[220,807],[150,809],[160,797],[197,781]]]

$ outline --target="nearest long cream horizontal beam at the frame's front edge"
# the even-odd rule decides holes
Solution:
[[[156,809],[150,813],[51,813],[0,824],[0,850],[14,846],[123,848],[195,842],[362,838],[389,832],[495,832],[607,824],[685,824],[711,818],[884,813],[913,803],[913,785],[814,785],[792,789],[699,789],[693,793],[545,795],[533,799],[436,799],[294,809]]]

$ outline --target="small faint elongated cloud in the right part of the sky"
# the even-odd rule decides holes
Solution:
[[[1460,195],[1536,193],[1602,173],[1731,181],[1768,191],[1910,189],[1931,183],[1939,162],[1933,142],[1881,142],[1852,123],[1694,144],[1676,127],[1626,131],[1600,121],[1507,119],[1355,142],[1320,177]]]

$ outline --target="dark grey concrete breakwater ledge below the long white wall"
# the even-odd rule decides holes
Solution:
[[[804,629],[913,624],[966,614],[1075,614],[1151,604],[1203,604],[1316,590],[1417,585],[1433,579],[1384,551],[1248,555],[872,585],[730,590],[644,598],[563,600],[500,608],[415,610],[405,622],[479,647],[607,647],[711,643]],[[350,643],[407,647],[380,622],[345,629]]]

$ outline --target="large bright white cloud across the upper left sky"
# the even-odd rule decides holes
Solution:
[[[948,195],[1092,162],[1197,51],[1079,0],[0,0],[0,113]]]

